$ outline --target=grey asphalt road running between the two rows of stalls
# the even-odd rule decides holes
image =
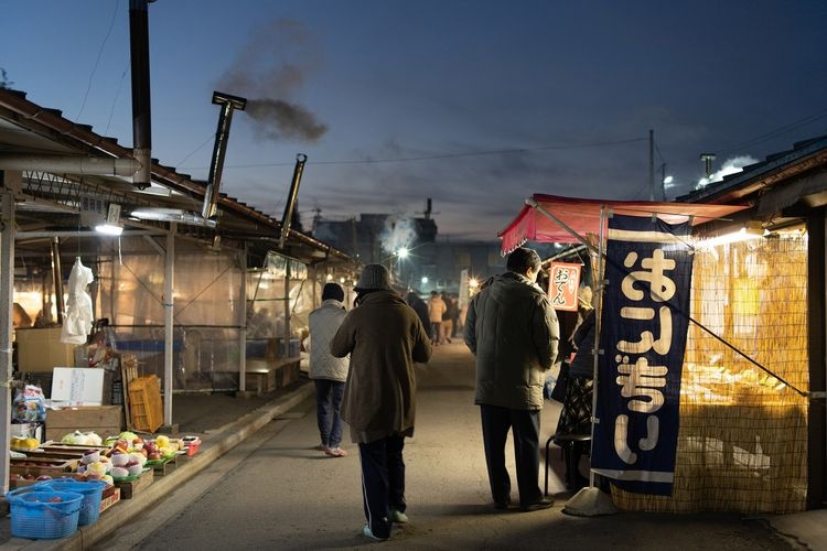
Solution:
[[[395,528],[387,542],[361,536],[357,449],[346,444],[344,458],[313,450],[319,436],[309,400],[95,549],[795,549],[738,515],[565,515],[559,454],[552,509],[496,511],[473,404],[472,356],[461,344],[439,347],[419,381],[416,435],[405,449],[410,523]],[[544,442],[557,415],[547,402]]]

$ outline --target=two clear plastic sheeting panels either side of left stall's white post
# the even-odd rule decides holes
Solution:
[[[112,346],[132,354],[139,375],[164,372],[164,255],[162,246],[123,238],[99,257],[97,316],[108,317]],[[175,244],[173,296],[174,391],[236,390],[245,307],[245,262],[237,251]]]

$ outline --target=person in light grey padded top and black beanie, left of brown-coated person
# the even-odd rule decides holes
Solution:
[[[344,290],[339,283],[326,283],[322,289],[322,305],[310,313],[310,372],[315,385],[316,420],[322,439],[321,450],[331,457],[344,457],[341,406],[350,358],[336,358],[330,353],[330,342],[347,312]]]

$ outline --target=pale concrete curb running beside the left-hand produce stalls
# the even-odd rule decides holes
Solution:
[[[115,532],[122,525],[129,522],[133,517],[140,515],[157,500],[163,498],[165,494],[173,491],[179,485],[184,484],[208,467],[215,460],[235,447],[239,442],[266,426],[273,418],[283,414],[313,396],[313,391],[312,385],[303,383],[290,393],[247,413],[238,421],[222,426],[221,432],[211,436],[208,443],[204,443],[207,444],[206,446],[202,444],[198,453],[193,455],[186,463],[176,467],[170,474],[153,479],[146,491],[142,491],[136,498],[118,503],[107,514],[101,515],[97,522],[79,527],[74,534],[67,538],[39,541],[12,538],[0,547],[2,549],[25,551],[75,551],[88,549]]]

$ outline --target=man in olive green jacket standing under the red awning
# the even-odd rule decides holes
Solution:
[[[557,314],[537,285],[540,257],[518,248],[507,272],[485,282],[472,299],[465,320],[465,344],[476,356],[476,397],[494,506],[511,503],[505,442],[511,430],[523,510],[547,509],[537,483],[540,466],[540,410],[545,371],[557,358]]]

